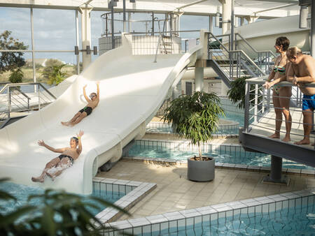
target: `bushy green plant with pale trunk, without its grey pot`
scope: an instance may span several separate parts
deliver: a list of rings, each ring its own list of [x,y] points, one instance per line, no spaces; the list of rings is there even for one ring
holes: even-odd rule
[[[219,104],[220,98],[215,93],[196,91],[192,95],[174,99],[162,117],[173,124],[176,134],[189,139],[192,145],[197,145],[200,160],[205,160],[202,157],[202,142],[213,138],[220,116],[225,115]]]

